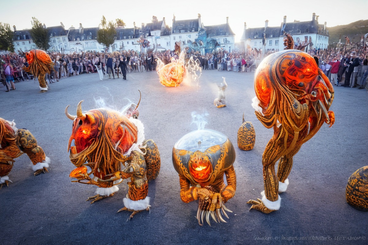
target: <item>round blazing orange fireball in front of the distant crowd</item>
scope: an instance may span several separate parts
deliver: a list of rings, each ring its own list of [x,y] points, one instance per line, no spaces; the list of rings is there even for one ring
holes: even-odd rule
[[[164,65],[157,73],[163,86],[178,87],[184,80],[185,66],[181,62],[172,62]]]

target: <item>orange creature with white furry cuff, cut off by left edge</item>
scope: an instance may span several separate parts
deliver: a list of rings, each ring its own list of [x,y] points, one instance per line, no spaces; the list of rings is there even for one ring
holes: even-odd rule
[[[13,168],[14,158],[27,154],[33,164],[34,175],[49,172],[50,159],[37,145],[36,138],[26,129],[17,129],[14,122],[0,118],[0,189],[8,185],[8,174]]]

